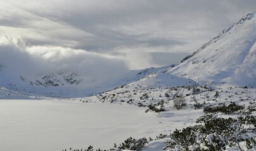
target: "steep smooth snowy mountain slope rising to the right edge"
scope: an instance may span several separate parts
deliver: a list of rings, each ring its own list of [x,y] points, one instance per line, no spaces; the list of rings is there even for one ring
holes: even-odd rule
[[[169,70],[201,83],[256,87],[256,11]]]

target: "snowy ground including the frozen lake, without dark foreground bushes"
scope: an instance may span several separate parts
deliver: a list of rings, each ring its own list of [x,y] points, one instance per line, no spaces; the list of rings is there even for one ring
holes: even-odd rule
[[[202,86],[195,89],[200,94],[192,95],[186,88],[145,89],[142,86],[136,89],[128,84],[88,98],[1,99],[0,150],[84,149],[89,145],[109,149],[129,137],[154,139],[160,133],[169,136],[176,128],[197,125],[205,106],[235,102],[245,108],[255,108],[256,89]],[[186,105],[181,109],[174,107],[172,98],[176,94],[188,95],[183,96]],[[197,103],[202,106],[195,108]],[[149,104],[166,111],[147,111]],[[217,116],[238,117],[224,113]],[[149,142],[144,150],[160,151],[168,138]]]

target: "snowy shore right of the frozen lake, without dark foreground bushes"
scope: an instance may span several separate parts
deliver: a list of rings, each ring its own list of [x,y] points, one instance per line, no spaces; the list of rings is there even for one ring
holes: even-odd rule
[[[195,92],[195,90],[199,93]],[[183,98],[184,106],[182,106],[180,109],[177,109],[174,103],[176,96]],[[245,110],[241,111],[241,113],[217,113],[217,117],[230,117],[235,119],[238,118],[238,116],[244,117],[246,115],[245,112],[247,112],[247,108],[254,108],[254,110],[256,108],[256,89],[225,86],[198,86],[194,87],[194,89],[192,87],[147,88],[147,86],[144,86],[143,83],[141,85],[134,85],[131,83],[126,84],[119,89],[101,93],[97,96],[76,98],[73,100],[79,100],[85,104],[88,102],[102,102],[147,106],[148,113],[155,113],[155,116],[158,118],[165,117],[171,121],[170,125],[168,126],[168,131],[173,133],[176,128],[180,130],[187,126],[198,125],[196,121],[198,118],[200,118],[200,116],[205,115],[204,108],[206,106],[218,106],[220,104],[226,104],[228,106],[229,104],[236,103],[240,106],[244,106]],[[150,109],[150,106],[153,108]],[[161,111],[161,109],[164,111]],[[252,116],[255,116],[255,114],[255,111],[251,113]],[[212,113],[212,115],[214,115],[214,113]],[[247,126],[245,125],[245,127]],[[255,132],[249,135],[255,137]],[[165,139],[157,139],[149,142],[147,145],[145,145],[144,150],[162,150],[165,141]],[[242,147],[245,148],[245,145],[242,145]],[[228,148],[228,150],[235,150],[235,148],[231,147]]]

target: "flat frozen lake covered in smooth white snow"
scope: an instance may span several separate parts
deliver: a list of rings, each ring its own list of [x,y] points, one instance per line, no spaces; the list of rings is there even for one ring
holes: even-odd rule
[[[109,149],[128,137],[169,133],[170,118],[108,103],[0,100],[0,150]],[[176,117],[179,118],[179,117]]]

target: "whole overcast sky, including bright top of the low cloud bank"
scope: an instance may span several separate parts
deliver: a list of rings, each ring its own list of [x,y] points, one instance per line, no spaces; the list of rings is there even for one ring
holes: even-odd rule
[[[0,4],[2,60],[13,50],[63,67],[77,66],[80,59],[89,70],[99,64],[105,69],[144,69],[178,63],[255,11],[256,1],[0,0]],[[15,48],[2,51],[6,45]]]

